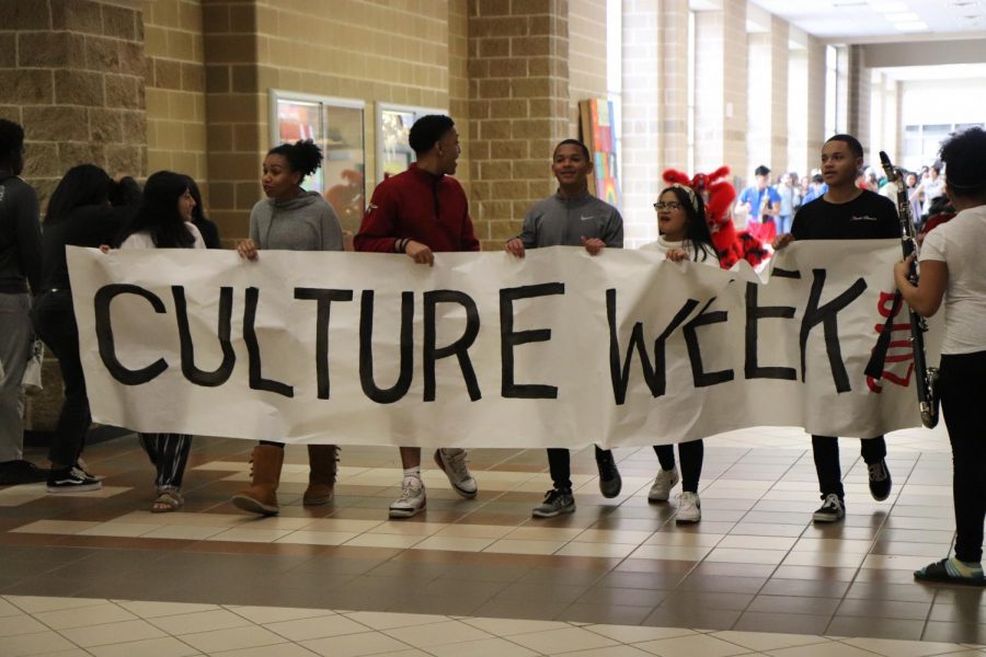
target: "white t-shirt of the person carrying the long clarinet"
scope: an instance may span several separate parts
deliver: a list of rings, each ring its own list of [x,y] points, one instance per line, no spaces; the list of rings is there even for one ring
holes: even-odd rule
[[[962,210],[925,238],[920,261],[949,267],[942,354],[986,351],[986,206]]]

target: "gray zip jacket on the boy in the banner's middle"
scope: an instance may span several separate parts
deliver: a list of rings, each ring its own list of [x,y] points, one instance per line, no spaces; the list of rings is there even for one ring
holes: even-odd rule
[[[555,194],[531,206],[517,237],[525,249],[581,246],[583,237],[598,238],[607,246],[620,249],[623,218],[618,209],[592,194],[578,198]]]

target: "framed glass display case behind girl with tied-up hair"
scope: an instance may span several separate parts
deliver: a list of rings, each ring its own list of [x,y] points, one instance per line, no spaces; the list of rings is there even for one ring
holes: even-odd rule
[[[358,100],[271,90],[271,146],[311,139],[322,148],[322,168],[302,187],[322,194],[349,232],[366,201],[365,108]]]

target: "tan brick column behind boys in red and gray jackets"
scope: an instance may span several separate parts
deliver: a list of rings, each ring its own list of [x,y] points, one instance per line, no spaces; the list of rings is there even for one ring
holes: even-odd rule
[[[469,0],[470,206],[483,249],[502,249],[551,194],[569,136],[565,0]]]

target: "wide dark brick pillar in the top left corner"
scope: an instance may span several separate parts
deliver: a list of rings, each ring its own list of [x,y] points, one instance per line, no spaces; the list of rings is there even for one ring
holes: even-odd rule
[[[91,0],[4,0],[0,15],[0,116],[24,126],[24,176],[43,206],[76,164],[144,175],[140,12]]]

